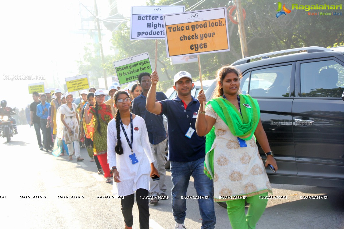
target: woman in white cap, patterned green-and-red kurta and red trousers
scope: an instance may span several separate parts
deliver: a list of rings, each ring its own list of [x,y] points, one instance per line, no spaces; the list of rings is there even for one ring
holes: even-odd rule
[[[105,104],[105,93],[103,90],[98,89],[95,93],[95,105],[90,107],[86,104],[84,117],[85,123],[88,125],[91,121],[94,125],[93,132],[93,152],[97,155],[101,168],[104,171],[105,183],[111,183],[111,171],[107,162],[107,125],[112,119],[111,107]]]

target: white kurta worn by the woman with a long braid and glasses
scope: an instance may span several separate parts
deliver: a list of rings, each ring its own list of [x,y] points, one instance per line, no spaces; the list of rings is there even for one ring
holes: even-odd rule
[[[120,137],[123,147],[123,154],[119,155],[115,151],[117,142],[116,120],[113,118],[107,129],[107,145],[108,145],[108,162],[110,169],[117,167],[120,176],[120,182],[114,182],[113,193],[119,196],[127,196],[133,194],[139,188],[149,190],[149,181],[151,167],[150,163],[154,162],[152,150],[148,139],[148,132],[144,119],[138,115],[133,118],[133,152],[139,162],[132,164],[129,158],[131,149],[128,145],[126,137],[120,127]],[[128,128],[127,128],[128,127]],[[130,141],[130,124],[124,125],[129,141]],[[117,189],[117,190],[116,190]],[[117,191],[117,192],[116,192]]]

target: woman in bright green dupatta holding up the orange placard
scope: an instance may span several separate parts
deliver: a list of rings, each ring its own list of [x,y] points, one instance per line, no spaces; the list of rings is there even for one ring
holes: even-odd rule
[[[215,95],[205,110],[205,94],[200,91],[196,131],[199,136],[206,135],[204,172],[214,181],[214,201],[227,203],[233,229],[254,229],[267,205],[267,199],[260,196],[272,193],[256,139],[268,154],[265,167],[278,167],[260,121],[257,100],[238,94],[239,75],[230,66],[218,70]],[[250,204],[246,216],[245,199]]]

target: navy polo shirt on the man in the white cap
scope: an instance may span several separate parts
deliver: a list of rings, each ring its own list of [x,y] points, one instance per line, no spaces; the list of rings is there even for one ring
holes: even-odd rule
[[[205,137],[196,133],[196,118],[200,102],[192,97],[185,109],[184,101],[178,96],[173,100],[160,101],[161,114],[167,117],[169,136],[169,161],[188,162],[205,157]],[[191,127],[195,130],[191,138],[185,136]]]

